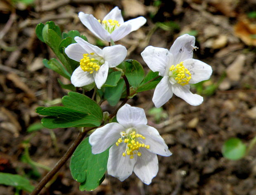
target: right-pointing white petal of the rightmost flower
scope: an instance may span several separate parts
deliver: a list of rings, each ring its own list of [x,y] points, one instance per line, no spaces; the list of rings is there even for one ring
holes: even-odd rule
[[[211,73],[213,72],[211,66],[200,60],[194,60],[192,58],[184,60],[183,65],[191,73],[191,79],[189,82],[192,84],[210,79]]]

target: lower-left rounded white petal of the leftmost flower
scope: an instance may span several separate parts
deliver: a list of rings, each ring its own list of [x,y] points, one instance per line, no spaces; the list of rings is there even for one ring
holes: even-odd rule
[[[71,76],[71,83],[75,87],[82,87],[85,85],[89,85],[94,82],[93,75],[89,72],[85,72],[81,69],[80,66],[74,70],[72,76]]]

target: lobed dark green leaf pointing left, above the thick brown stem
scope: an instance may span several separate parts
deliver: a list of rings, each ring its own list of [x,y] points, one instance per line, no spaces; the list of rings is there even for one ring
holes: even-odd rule
[[[69,92],[62,98],[64,106],[38,107],[38,114],[47,116],[42,119],[44,127],[67,128],[67,127],[97,127],[103,118],[100,106],[89,97]]]

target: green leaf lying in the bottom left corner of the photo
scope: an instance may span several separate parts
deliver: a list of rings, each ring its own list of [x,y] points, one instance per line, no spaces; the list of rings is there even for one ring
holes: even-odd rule
[[[0,184],[14,186],[20,190],[32,192],[34,186],[29,183],[29,180],[18,174],[0,173]]]

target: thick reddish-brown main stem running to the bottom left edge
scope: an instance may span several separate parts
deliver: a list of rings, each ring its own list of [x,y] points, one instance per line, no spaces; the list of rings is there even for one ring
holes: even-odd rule
[[[66,151],[64,156],[59,160],[59,162],[53,167],[53,169],[48,172],[44,178],[38,183],[38,186],[33,190],[31,195],[37,195],[42,188],[46,185],[50,179],[59,171],[59,169],[66,163],[66,161],[69,159],[69,157],[73,154],[77,146],[82,142],[83,138],[85,137],[86,133],[92,129],[95,129],[95,127],[88,128],[87,130],[83,132],[79,132],[78,136],[76,137],[75,141],[73,144],[69,147],[69,149]]]

